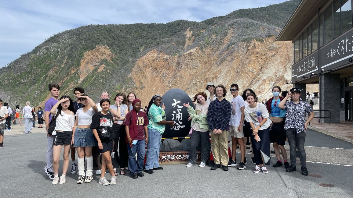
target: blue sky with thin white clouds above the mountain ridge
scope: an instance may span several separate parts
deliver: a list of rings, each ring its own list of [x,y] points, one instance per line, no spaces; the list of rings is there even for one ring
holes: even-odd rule
[[[90,24],[203,21],[286,0],[0,0],[0,67],[56,33]]]

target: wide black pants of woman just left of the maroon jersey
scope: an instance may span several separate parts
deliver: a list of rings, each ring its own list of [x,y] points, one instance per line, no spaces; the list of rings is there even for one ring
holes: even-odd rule
[[[127,151],[127,144],[125,141],[126,132],[125,126],[121,124],[114,124],[114,158],[112,159],[113,168],[125,168],[128,165],[129,154]],[[120,140],[120,142],[119,142]],[[119,154],[118,154],[119,143]]]

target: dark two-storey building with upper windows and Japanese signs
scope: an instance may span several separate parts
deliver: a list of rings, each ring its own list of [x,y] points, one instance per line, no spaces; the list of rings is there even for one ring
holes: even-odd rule
[[[331,112],[331,123],[353,121],[352,14],[352,0],[302,0],[276,38],[293,42],[293,87],[304,99],[305,85],[318,83],[319,110]]]

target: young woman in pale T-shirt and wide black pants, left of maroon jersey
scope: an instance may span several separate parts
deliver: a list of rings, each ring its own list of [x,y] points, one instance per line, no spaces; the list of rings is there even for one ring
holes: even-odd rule
[[[122,123],[127,115],[128,107],[123,104],[125,101],[125,94],[116,94],[114,101],[115,104],[109,107],[110,113],[113,115],[114,119],[114,158],[112,159],[114,175],[118,175],[116,168],[120,166],[120,175],[125,175],[125,167],[128,165],[128,151],[127,144],[125,141],[126,132],[125,127]],[[120,141],[119,141],[120,140]],[[118,143],[119,143],[119,154],[118,154]]]

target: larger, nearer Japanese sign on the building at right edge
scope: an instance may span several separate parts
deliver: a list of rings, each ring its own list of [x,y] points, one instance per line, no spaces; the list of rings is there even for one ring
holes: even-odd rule
[[[353,30],[320,49],[321,69],[327,71],[348,64],[351,57],[353,57]]]

